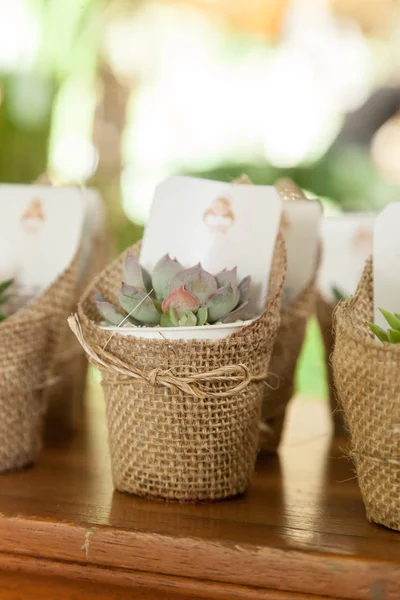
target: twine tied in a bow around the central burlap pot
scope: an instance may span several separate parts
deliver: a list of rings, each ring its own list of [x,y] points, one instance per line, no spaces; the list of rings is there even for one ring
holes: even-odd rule
[[[227,398],[239,394],[252,381],[264,382],[265,385],[268,385],[266,382],[267,372],[253,375],[250,369],[243,364],[226,365],[200,373],[191,365],[179,365],[170,369],[156,368],[145,372],[132,365],[127,365],[104,348],[89,346],[84,339],[77,315],[69,317],[68,324],[88,355],[90,363],[107,372],[107,378],[103,385],[129,385],[134,380],[140,380],[153,387],[175,388],[199,399]],[[226,384],[226,389],[212,391],[210,387],[215,383]]]

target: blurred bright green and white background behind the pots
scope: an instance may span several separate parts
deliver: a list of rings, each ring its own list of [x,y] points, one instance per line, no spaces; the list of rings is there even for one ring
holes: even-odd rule
[[[399,3],[0,3],[0,180],[97,186],[115,252],[171,174],[292,177],[326,212],[399,197]],[[318,326],[301,393],[326,394]]]

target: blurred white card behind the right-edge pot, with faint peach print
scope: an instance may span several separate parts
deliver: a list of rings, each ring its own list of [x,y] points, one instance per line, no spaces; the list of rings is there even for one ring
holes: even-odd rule
[[[322,220],[322,262],[318,287],[327,302],[337,302],[334,289],[348,297],[357,289],[365,261],[372,254],[373,213],[342,213]]]

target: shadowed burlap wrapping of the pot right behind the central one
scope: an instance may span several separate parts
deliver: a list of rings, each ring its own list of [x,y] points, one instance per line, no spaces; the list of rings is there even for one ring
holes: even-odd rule
[[[271,388],[265,388],[260,422],[261,453],[276,452],[282,437],[285,414],[294,394],[297,360],[303,346],[309,317],[315,309],[314,279],[281,311],[274,350],[269,365]]]

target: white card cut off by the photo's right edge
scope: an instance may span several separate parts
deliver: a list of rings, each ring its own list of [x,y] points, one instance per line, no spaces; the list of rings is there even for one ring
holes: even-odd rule
[[[379,308],[400,313],[400,202],[376,217],[374,227],[374,323],[389,326]]]

